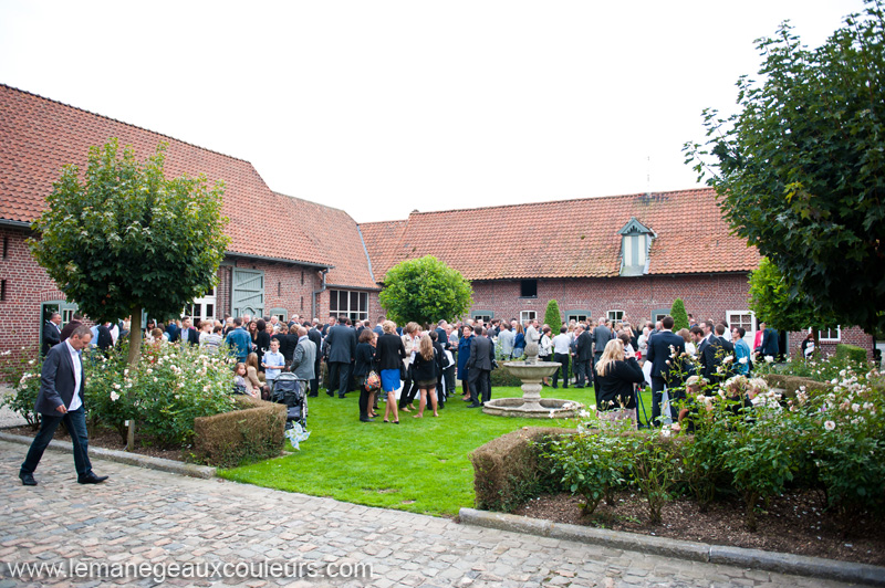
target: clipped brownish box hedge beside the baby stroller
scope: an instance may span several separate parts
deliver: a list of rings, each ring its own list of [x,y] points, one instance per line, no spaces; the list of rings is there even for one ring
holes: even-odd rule
[[[195,459],[236,468],[280,454],[285,406],[241,396],[237,408],[240,410],[194,420]]]

